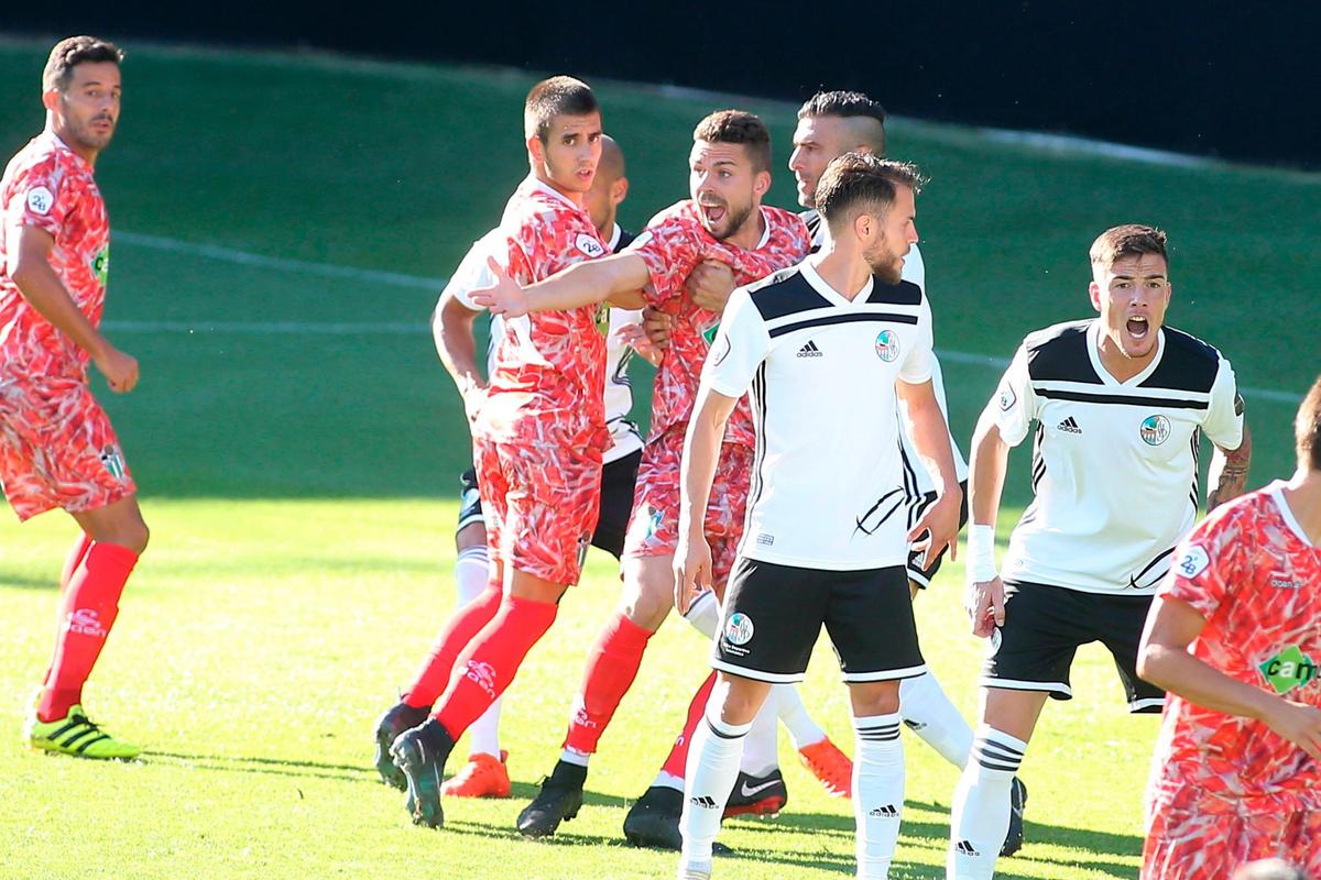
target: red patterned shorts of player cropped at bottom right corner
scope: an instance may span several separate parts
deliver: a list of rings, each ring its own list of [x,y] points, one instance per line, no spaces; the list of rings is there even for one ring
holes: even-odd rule
[[[1321,813],[1210,814],[1166,807],[1143,847],[1141,880],[1225,880],[1244,862],[1284,859],[1321,877]]]

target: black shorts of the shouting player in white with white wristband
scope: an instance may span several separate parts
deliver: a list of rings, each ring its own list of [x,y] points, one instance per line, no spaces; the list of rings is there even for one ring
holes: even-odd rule
[[[1099,641],[1115,658],[1128,711],[1159,712],[1165,706],[1165,691],[1137,677],[1137,643],[1151,596],[1017,582],[1007,582],[1004,591],[1004,625],[991,636],[995,653],[982,670],[983,687],[1044,690],[1055,699],[1073,699],[1074,653]]]

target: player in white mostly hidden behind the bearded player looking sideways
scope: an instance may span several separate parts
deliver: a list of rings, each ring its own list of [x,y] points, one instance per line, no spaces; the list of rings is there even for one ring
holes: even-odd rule
[[[849,150],[885,156],[885,108],[867,95],[855,91],[826,91],[812,95],[798,110],[798,128],[794,131],[794,152],[789,157],[789,168],[798,183],[798,202],[806,208],[799,216],[812,232],[814,248],[823,247],[828,239],[828,230],[815,210],[816,183],[831,160]],[[926,292],[926,265],[917,244],[904,257],[904,281],[915,284],[923,293]],[[931,355],[931,387],[935,389],[935,400],[941,404],[941,412],[945,413],[946,422],[948,422],[950,410],[945,402],[945,377],[941,373],[941,361],[934,352]],[[913,525],[921,519],[922,512],[935,501],[937,492],[931,476],[922,467],[921,458],[913,449],[908,424],[901,421],[900,426],[902,429],[900,437],[904,443],[905,488],[910,501],[909,524]],[[950,449],[954,453],[954,470],[959,478],[960,489],[967,492],[968,466],[963,460],[963,454],[952,434]],[[959,511],[960,528],[967,522],[967,499],[964,499],[964,505]],[[923,565],[922,555],[922,551],[917,549],[909,554],[909,592],[914,599],[917,599],[919,590],[925,590],[931,583],[935,573],[941,569],[941,561],[945,558],[942,550],[934,557],[929,557]],[[972,749],[972,728],[946,697],[935,674],[927,672],[900,682],[900,714],[904,715],[904,723],[942,757],[960,770],[967,765]],[[1013,855],[1022,846],[1022,807],[1028,800],[1028,789],[1017,777],[1013,780],[1009,798],[1009,830],[1005,834],[1000,855]]]

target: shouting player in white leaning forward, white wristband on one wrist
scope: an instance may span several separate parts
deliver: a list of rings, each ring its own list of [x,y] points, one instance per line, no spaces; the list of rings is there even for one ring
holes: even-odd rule
[[[1209,507],[1243,491],[1250,442],[1234,371],[1162,327],[1170,299],[1165,234],[1118,226],[1091,245],[1098,318],[1029,334],[972,438],[967,608],[991,637],[982,724],[954,797],[951,880],[992,876],[1009,786],[1046,702],[1073,699],[1078,645],[1115,658],[1133,712],[1164,693],[1137,678],[1152,594],[1197,517],[1198,438],[1215,446]],[[1036,499],[995,569],[995,519],[1009,447],[1037,422]]]

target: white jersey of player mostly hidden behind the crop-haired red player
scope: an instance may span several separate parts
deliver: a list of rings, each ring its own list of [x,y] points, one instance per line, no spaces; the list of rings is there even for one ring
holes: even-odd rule
[[[624,232],[620,226],[614,226],[610,236],[610,251],[617,249]],[[472,309],[483,311],[481,306],[473,303],[469,292],[476,288],[485,288],[495,284],[495,276],[486,265],[486,257],[495,255],[506,241],[499,228],[491,230],[468,249],[464,259],[454,269],[454,274],[445,285],[445,292],[453,294],[456,299]],[[444,294],[443,294],[444,296]],[[610,309],[610,331],[605,340],[605,422],[610,429],[610,449],[605,451],[604,463],[618,460],[642,449],[642,433],[638,426],[629,421],[629,412],[633,409],[633,385],[629,383],[629,360],[633,358],[633,348],[620,336],[620,329],[642,321],[642,313],[631,309]],[[486,348],[486,375],[495,363],[495,343],[505,332],[505,322],[499,317],[491,318],[490,344]]]

